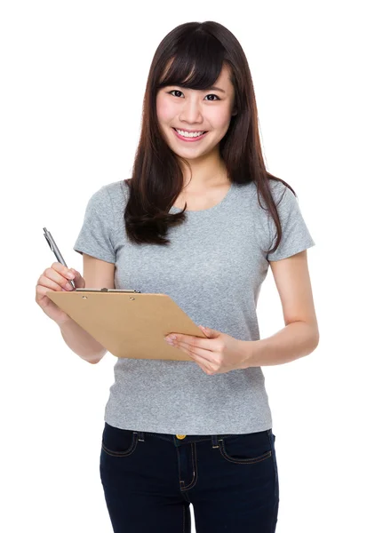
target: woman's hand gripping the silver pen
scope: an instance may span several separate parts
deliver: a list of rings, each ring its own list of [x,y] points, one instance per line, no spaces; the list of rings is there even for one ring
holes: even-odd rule
[[[73,274],[73,277],[69,277],[69,272]],[[69,269],[68,267],[64,267],[64,265],[61,265],[61,263],[57,261],[52,263],[51,267],[46,268],[36,282],[37,305],[42,308],[47,316],[59,325],[70,320],[70,316],[52,302],[52,299],[48,298],[45,293],[49,290],[64,292],[74,290],[69,283],[69,280],[74,280],[77,289],[84,289],[86,286],[84,278],[79,272],[74,268]]]

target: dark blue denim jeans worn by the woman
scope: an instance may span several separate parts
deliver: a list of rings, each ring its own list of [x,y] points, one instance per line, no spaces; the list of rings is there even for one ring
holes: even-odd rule
[[[105,423],[100,479],[115,533],[274,533],[279,482],[272,429],[141,433]]]

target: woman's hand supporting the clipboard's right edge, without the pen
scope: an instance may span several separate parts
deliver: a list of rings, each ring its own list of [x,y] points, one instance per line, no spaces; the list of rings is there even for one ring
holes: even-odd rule
[[[206,374],[224,374],[230,370],[246,369],[249,366],[249,345],[226,333],[198,326],[207,338],[169,333],[165,340],[172,339],[171,346],[180,348],[189,355]]]

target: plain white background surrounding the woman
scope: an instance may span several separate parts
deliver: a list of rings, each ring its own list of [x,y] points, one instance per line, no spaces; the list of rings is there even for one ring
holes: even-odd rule
[[[316,243],[307,254],[320,344],[263,367],[280,476],[277,532],[371,530],[370,4],[1,4],[2,531],[112,531],[99,459],[116,358],[84,362],[36,305],[37,278],[55,260],[43,227],[82,272],[73,244],[89,197],[130,177],[156,47],[193,20],[220,22],[243,45],[267,170],[294,188]],[[261,338],[283,325],[269,270]]]

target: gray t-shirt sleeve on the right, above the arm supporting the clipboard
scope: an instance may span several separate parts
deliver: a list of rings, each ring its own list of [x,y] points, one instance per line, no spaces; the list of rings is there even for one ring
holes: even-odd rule
[[[277,249],[273,253],[267,253],[268,261],[286,259],[299,253],[299,251],[304,251],[307,248],[315,246],[315,241],[310,235],[305,219],[299,209],[297,197],[282,182],[277,182],[275,190],[277,194],[274,196],[274,199],[279,213],[283,235]],[[276,226],[274,219],[270,216],[268,218],[268,231],[270,243],[268,250],[271,250],[276,242]]]

